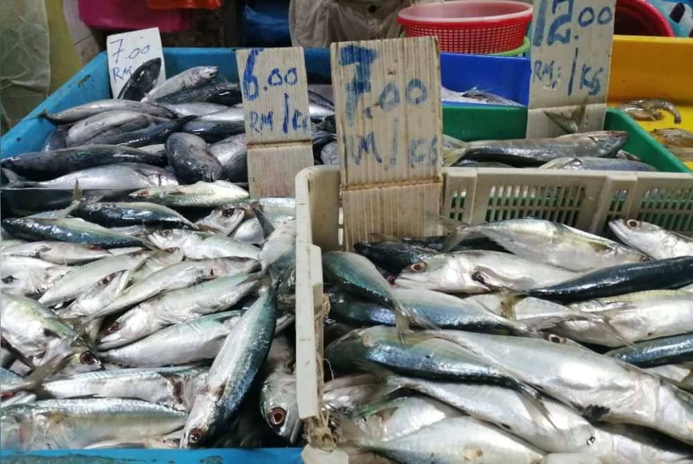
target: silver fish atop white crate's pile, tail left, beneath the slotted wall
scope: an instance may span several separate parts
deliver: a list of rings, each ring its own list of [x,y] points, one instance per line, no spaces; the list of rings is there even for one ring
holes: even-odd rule
[[[576,272],[647,260],[642,253],[613,240],[533,218],[459,226],[446,242],[445,250],[453,249],[469,235],[484,235],[520,258]],[[543,246],[547,243],[551,247]]]

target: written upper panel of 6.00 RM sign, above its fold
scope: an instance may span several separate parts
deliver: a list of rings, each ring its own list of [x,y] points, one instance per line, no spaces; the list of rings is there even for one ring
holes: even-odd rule
[[[301,48],[236,52],[249,142],[310,140],[310,114]]]

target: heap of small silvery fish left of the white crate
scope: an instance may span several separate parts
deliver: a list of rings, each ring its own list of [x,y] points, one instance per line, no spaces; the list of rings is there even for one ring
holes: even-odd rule
[[[286,445],[295,202],[248,196],[199,181],[2,221],[1,449]]]

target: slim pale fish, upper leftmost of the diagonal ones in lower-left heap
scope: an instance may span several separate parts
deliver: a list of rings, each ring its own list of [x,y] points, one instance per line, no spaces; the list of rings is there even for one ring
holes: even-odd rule
[[[135,251],[73,267],[39,298],[39,303],[51,306],[73,300],[109,274],[138,267],[149,255],[149,251]]]

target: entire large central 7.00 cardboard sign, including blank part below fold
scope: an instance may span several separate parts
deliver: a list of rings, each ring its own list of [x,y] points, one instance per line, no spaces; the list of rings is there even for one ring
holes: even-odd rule
[[[331,46],[347,248],[426,235],[441,201],[441,101],[432,37]]]

